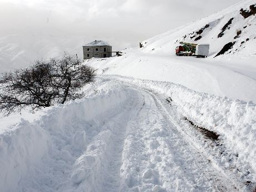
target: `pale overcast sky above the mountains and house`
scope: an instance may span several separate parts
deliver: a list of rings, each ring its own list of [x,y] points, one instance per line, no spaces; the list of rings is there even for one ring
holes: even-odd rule
[[[227,8],[240,0],[0,0],[0,36],[84,36],[118,49]]]

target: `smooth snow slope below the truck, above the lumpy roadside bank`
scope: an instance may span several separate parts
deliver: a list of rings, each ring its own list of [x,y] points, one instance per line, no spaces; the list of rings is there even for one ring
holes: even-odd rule
[[[85,63],[98,74],[169,81],[195,91],[256,102],[254,58],[194,58],[125,50],[121,57],[93,58]]]

